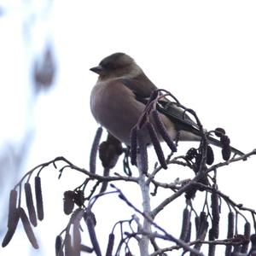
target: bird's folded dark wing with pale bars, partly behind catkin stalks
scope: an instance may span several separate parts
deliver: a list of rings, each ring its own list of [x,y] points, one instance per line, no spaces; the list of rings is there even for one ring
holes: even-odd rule
[[[121,82],[132,90],[138,102],[142,102],[145,105],[151,93],[157,90],[157,87],[145,75],[136,79],[121,79]],[[172,120],[177,131],[190,131],[195,133],[195,135],[199,135],[198,125],[189,118],[188,114],[184,113],[182,108],[178,108],[175,103],[166,101],[165,99],[157,104],[157,109],[160,113],[165,114]]]

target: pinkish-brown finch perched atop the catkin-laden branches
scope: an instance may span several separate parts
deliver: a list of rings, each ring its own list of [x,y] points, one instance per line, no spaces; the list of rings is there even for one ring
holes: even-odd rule
[[[158,88],[148,79],[137,62],[122,52],[108,55],[90,71],[98,74],[96,84],[90,94],[90,110],[96,122],[105,127],[113,137],[126,146],[131,146],[131,129],[141,117],[148,98]],[[169,102],[164,99],[162,102]],[[164,104],[166,105],[166,104]],[[159,108],[159,115],[166,127],[169,137],[179,141],[200,141],[201,132],[183,108],[175,104],[168,104],[167,108]],[[159,136],[160,141],[162,138]],[[150,144],[147,131],[144,132],[145,141]],[[208,142],[223,147],[214,137],[208,137]],[[235,154],[243,153],[231,147]]]

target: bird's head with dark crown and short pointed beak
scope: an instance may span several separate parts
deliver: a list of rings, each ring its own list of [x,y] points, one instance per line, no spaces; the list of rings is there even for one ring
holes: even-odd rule
[[[143,73],[129,55],[120,52],[104,58],[98,66],[90,68],[90,71],[99,74],[100,79],[134,78]]]

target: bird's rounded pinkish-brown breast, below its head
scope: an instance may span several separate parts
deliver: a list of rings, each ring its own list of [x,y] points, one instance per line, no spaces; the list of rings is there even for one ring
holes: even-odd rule
[[[121,82],[107,81],[94,86],[90,108],[98,123],[121,142],[129,144],[131,128],[143,113],[144,105],[137,102],[132,91]]]

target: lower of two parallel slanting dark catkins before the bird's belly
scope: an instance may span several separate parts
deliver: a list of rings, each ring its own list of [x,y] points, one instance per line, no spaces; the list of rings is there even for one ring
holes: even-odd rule
[[[151,123],[146,123],[146,127],[148,129],[149,137],[154,146],[154,151],[157,154],[157,158],[160,162],[160,166],[164,169],[167,169],[166,159],[164,152],[160,146],[160,141],[157,137],[156,131],[154,130],[154,126]]]

